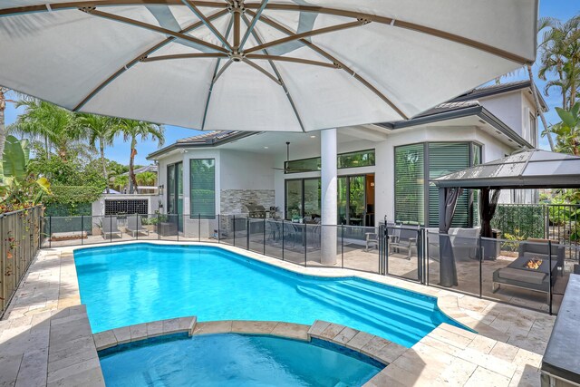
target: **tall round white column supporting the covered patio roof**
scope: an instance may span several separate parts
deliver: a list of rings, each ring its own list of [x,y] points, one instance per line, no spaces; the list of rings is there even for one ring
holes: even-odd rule
[[[336,181],[336,129],[326,129],[320,136],[321,184],[322,184],[322,224],[337,223],[337,181]],[[336,263],[336,227],[322,227],[321,263]]]

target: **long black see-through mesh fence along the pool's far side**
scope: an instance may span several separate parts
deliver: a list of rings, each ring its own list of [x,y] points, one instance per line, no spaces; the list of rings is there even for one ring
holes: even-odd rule
[[[57,231],[55,231],[57,230]],[[123,241],[205,242],[239,247],[307,267],[342,267],[556,313],[570,272],[557,240],[441,234],[382,222],[378,227],[295,223],[243,215],[119,214],[43,218],[42,247]]]

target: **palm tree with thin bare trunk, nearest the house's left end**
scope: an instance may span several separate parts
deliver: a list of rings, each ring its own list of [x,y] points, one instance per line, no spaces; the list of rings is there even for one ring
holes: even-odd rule
[[[129,178],[130,178],[130,193],[134,193],[137,189],[137,179],[135,178],[135,155],[137,155],[137,138],[140,140],[148,140],[151,136],[152,140],[158,140],[159,146],[165,142],[163,135],[163,127],[150,122],[136,121],[122,119],[115,129],[115,134],[123,135],[123,140],[131,141],[131,155],[129,158]]]

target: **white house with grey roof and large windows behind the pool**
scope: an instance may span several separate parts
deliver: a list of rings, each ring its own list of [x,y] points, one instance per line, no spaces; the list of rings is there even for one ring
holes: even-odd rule
[[[530,82],[511,82],[475,89],[408,121],[307,133],[208,132],[148,159],[159,165],[160,211],[207,219],[204,234],[217,214],[247,213],[247,205],[278,208],[288,219],[322,216],[325,224],[375,226],[386,216],[437,226],[437,189],[429,179],[535,148],[534,111]],[[502,196],[535,200],[533,191]],[[469,191],[459,198],[455,227],[477,223],[474,201]]]

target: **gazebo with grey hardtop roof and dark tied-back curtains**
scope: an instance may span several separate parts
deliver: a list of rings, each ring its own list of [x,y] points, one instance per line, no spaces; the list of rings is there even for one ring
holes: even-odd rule
[[[461,190],[479,190],[481,237],[492,237],[501,189],[580,189],[580,157],[523,150],[431,181],[439,188],[440,285],[453,286],[458,279],[448,232]]]

